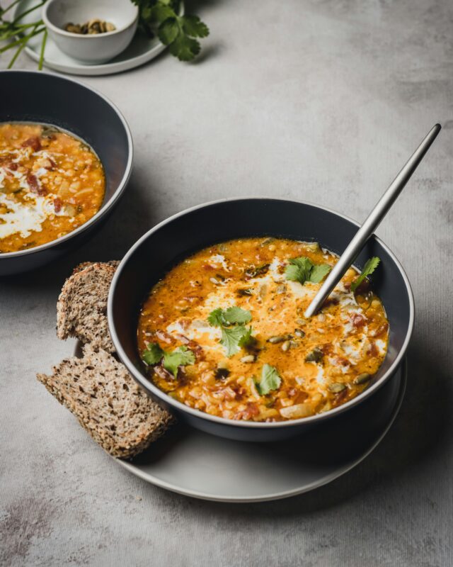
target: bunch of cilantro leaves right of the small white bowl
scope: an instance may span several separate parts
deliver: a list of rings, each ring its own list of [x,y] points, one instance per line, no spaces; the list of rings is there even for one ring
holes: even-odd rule
[[[148,35],[156,34],[171,55],[191,61],[200,53],[200,42],[210,30],[198,16],[179,16],[179,0],[132,0],[139,7],[139,26]]]

